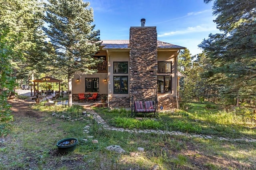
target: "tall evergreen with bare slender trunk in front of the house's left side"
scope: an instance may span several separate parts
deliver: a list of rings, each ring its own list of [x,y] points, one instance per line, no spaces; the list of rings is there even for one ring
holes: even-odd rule
[[[82,0],[48,0],[43,28],[52,46],[50,65],[68,77],[69,101],[72,106],[72,76],[74,73],[94,73],[90,70],[98,61],[92,56],[99,50],[99,30],[94,30],[93,10]]]

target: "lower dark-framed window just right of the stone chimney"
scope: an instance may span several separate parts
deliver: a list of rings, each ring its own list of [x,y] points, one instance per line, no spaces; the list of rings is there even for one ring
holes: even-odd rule
[[[172,93],[172,76],[157,76],[157,92]]]

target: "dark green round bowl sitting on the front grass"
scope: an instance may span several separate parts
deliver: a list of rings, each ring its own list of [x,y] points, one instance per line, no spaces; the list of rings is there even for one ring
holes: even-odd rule
[[[65,138],[57,142],[59,153],[73,152],[78,144],[76,138]]]

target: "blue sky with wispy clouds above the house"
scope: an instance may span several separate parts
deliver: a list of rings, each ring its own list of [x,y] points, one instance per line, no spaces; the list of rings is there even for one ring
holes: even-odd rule
[[[212,3],[203,0],[91,0],[96,29],[101,40],[129,40],[131,26],[156,26],[158,40],[201,53],[198,44],[216,34]]]

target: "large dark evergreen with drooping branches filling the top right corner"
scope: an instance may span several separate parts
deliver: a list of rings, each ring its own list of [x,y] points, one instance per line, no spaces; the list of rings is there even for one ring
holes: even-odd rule
[[[208,3],[212,0],[204,0]],[[256,1],[214,0],[220,34],[210,34],[199,47],[209,57],[204,75],[225,86],[223,94],[251,97],[256,89]]]

